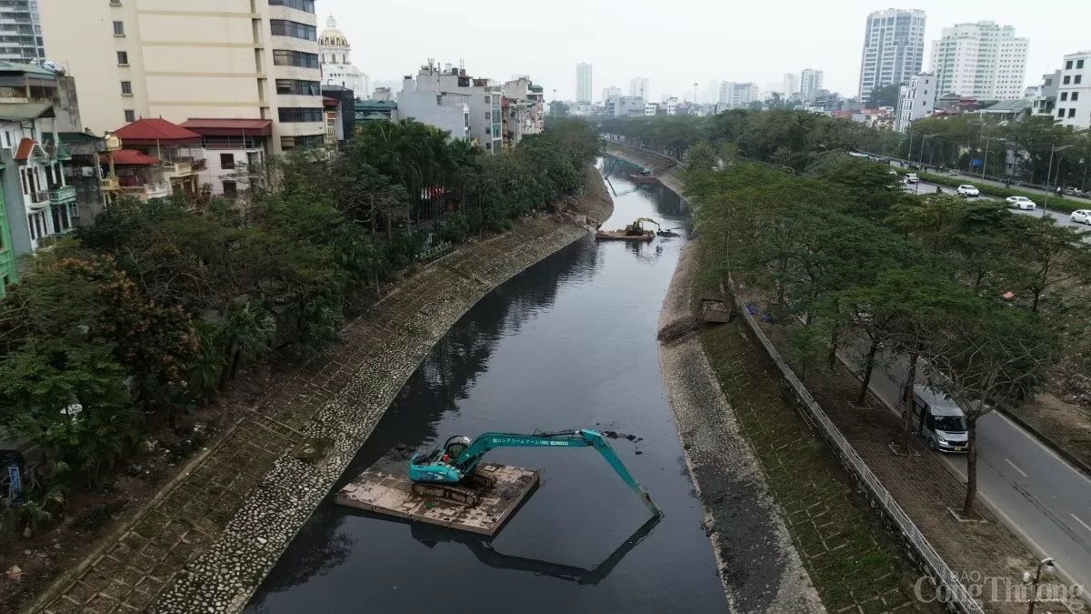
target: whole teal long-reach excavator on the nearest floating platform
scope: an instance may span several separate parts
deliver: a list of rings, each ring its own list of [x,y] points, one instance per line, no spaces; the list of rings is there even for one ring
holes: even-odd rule
[[[456,504],[475,506],[478,491],[495,485],[491,477],[478,473],[481,458],[495,448],[595,448],[610,463],[622,481],[640,497],[640,501],[660,517],[663,512],[651,500],[651,496],[630,475],[628,470],[614,453],[602,434],[587,428],[580,430],[558,430],[553,433],[484,433],[477,439],[456,435],[447,439],[442,448],[429,452],[417,452],[409,459],[409,480],[412,492],[418,495],[440,497]]]

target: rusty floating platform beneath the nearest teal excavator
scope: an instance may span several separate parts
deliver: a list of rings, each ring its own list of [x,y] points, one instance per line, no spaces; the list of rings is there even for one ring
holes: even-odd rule
[[[334,501],[375,513],[492,536],[538,486],[537,471],[482,462],[478,464],[477,472],[495,480],[495,485],[472,488],[478,492],[477,505],[458,505],[413,493],[406,462],[400,459],[398,462],[379,461],[341,488],[334,496]]]

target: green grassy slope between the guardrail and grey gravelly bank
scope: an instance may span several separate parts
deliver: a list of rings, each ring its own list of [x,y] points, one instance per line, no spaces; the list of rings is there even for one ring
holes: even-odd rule
[[[740,326],[708,329],[702,343],[826,609],[931,612],[911,598],[915,576],[898,544],[855,494],[836,453],[782,395]]]

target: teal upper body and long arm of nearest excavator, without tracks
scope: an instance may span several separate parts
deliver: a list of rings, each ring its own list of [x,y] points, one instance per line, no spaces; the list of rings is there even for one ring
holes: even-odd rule
[[[452,438],[455,439],[455,438]],[[484,433],[479,435],[473,441],[463,448],[463,445],[458,445],[458,448],[453,448],[448,444],[448,452],[444,453],[443,457],[445,461],[437,461],[447,471],[442,473],[442,475],[457,475],[459,479],[465,477],[473,473],[477,469],[478,463],[484,457],[489,450],[495,448],[595,448],[598,450],[602,458],[607,460],[607,463],[621,476],[622,481],[633,489],[634,493],[640,497],[640,503],[651,511],[654,516],[662,516],[662,510],[659,506],[651,500],[648,493],[633,479],[628,470],[625,469],[625,464],[621,462],[618,454],[610,447],[600,433],[589,429],[580,430],[559,430],[555,433],[536,433],[532,435],[521,435],[517,433]],[[452,458],[454,457],[454,458]],[[415,477],[415,469],[417,474],[422,477],[421,481],[437,481],[434,477],[424,477],[428,472],[427,468],[420,468],[417,459],[410,461],[410,479]],[[435,474],[440,475],[440,474]]]

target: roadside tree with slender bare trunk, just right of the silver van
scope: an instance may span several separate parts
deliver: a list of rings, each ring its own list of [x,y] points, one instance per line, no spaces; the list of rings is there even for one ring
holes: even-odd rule
[[[1057,340],[1033,314],[992,307],[971,317],[946,318],[922,352],[932,386],[947,393],[967,417],[967,491],[963,516],[978,494],[978,421],[999,406],[1033,398],[1044,383]]]

